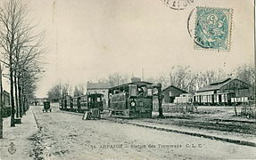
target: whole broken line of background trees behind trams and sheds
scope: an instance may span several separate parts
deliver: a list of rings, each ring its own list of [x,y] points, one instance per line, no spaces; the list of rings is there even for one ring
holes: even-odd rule
[[[232,73],[225,73],[223,70],[207,70],[205,72],[194,72],[190,67],[176,66],[170,68],[169,74],[159,77],[146,78],[145,81],[162,84],[162,89],[169,85],[175,85],[187,92],[194,93],[202,86],[214,81],[235,77],[255,87],[255,68],[250,65],[243,65],[233,69]],[[113,73],[107,78],[99,79],[98,83],[107,83],[109,86],[116,86],[130,82],[130,76],[120,73]],[[56,84],[48,92],[49,100],[59,100],[65,96],[78,96],[86,92],[86,84],[79,84],[72,87],[69,83]]]

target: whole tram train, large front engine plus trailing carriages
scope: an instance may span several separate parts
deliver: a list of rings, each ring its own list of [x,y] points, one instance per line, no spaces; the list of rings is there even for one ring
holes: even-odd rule
[[[161,84],[132,82],[109,89],[109,111],[111,116],[137,118],[152,117],[153,96],[158,96]],[[91,93],[78,97],[66,97],[59,101],[61,110],[71,112],[103,112],[103,94]]]

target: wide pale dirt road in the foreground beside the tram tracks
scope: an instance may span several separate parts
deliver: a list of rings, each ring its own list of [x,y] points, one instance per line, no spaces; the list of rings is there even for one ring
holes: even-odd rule
[[[156,131],[31,107],[40,128],[30,137],[34,159],[235,159],[256,158],[255,148]]]

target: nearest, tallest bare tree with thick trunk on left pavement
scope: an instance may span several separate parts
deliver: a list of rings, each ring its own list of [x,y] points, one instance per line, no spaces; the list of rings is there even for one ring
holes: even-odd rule
[[[15,42],[19,38],[21,22],[24,19],[25,10],[21,5],[20,1],[11,0],[4,3],[4,7],[0,9],[0,45],[4,49],[4,53],[8,58],[6,63],[10,72],[10,92],[11,92],[11,106],[12,106],[12,116],[11,116],[11,126],[14,124],[14,99],[13,99],[13,55],[15,52]]]

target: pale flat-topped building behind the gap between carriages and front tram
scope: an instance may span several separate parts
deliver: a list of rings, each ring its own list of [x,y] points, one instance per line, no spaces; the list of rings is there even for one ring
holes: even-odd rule
[[[90,83],[87,82],[87,94],[102,93],[103,94],[103,108],[108,108],[109,101],[109,88],[108,83]]]

